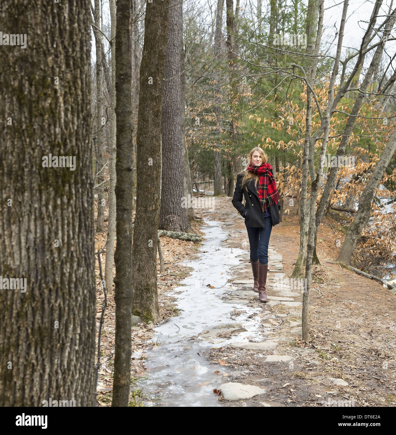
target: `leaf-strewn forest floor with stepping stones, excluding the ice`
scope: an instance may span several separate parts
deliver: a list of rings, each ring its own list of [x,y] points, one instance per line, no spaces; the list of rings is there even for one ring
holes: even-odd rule
[[[216,197],[215,201],[213,210],[198,209],[198,214],[220,222],[228,234],[222,241],[223,247],[246,251],[238,256],[240,265],[229,267],[231,293],[229,288],[224,288],[226,303],[235,304],[230,315],[235,323],[223,325],[223,329],[204,330],[189,338],[213,343],[212,347],[203,347],[201,355],[219,377],[213,393],[218,395],[219,403],[223,406],[396,405],[396,296],[376,281],[334,263],[339,252],[336,241],[343,240],[341,225],[325,218],[319,229],[317,253],[321,265],[313,269],[309,296],[310,341],[305,343],[301,338],[302,290],[293,288],[294,282],[285,284],[291,277],[299,249],[295,207],[289,207],[290,214],[285,214],[282,222],[272,228],[267,279],[269,301],[263,304],[252,291],[244,220],[232,206],[231,198]],[[200,233],[199,228],[203,227],[205,223],[198,221],[194,230]],[[96,248],[103,244],[104,236],[98,235]],[[169,293],[191,270],[178,263],[185,258],[197,258],[199,244],[161,237],[161,245],[168,274],[158,278],[158,297],[166,320],[179,312],[177,300]],[[102,304],[103,291],[97,271],[97,326]],[[254,319],[261,336],[265,337],[261,342],[238,338],[245,331],[238,317],[243,317],[249,308],[258,312]],[[114,313],[114,297],[109,296],[102,361],[114,352]],[[133,352],[158,346],[153,340],[154,327],[142,323],[133,327]],[[111,403],[113,361],[114,358],[105,361],[99,370],[99,406]],[[149,375],[144,358],[132,359],[132,383]],[[252,397],[244,398],[247,390],[251,391],[247,396]],[[144,391],[132,388],[131,392],[131,406],[144,404]]]

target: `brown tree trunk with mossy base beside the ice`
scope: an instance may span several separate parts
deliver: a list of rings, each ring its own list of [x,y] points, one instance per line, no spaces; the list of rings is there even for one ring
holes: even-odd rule
[[[136,139],[137,194],[132,271],[135,286],[133,312],[146,322],[162,320],[157,293],[157,238],[161,204],[162,86],[168,15],[169,0],[147,2],[140,66]],[[175,106],[180,113],[180,99],[176,101],[178,104]]]

